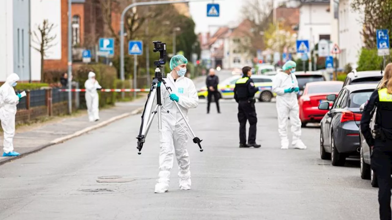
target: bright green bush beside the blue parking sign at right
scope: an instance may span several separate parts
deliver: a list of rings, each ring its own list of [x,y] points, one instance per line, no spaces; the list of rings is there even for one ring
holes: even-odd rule
[[[377,49],[363,48],[359,55],[357,71],[380,70],[382,61],[383,57],[378,56]]]

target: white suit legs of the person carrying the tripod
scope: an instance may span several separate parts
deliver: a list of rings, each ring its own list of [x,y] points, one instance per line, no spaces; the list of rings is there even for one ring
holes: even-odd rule
[[[185,124],[181,124],[187,129]],[[162,130],[159,130],[160,154],[159,154],[159,179],[158,183],[169,184],[170,171],[173,168],[174,153],[179,166],[178,177],[180,187],[191,187],[191,171],[189,171],[189,154],[187,151],[188,136],[182,128],[176,124],[174,130],[162,120]]]

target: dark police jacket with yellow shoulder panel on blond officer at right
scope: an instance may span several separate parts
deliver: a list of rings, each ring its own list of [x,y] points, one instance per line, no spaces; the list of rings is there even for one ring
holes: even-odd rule
[[[377,107],[377,111],[374,109]],[[363,109],[361,118],[361,132],[369,146],[376,146],[377,142],[372,136],[370,128],[370,119],[372,119],[372,112],[376,114],[376,124],[380,127],[383,141],[392,141],[392,94],[388,94],[387,88],[375,90],[370,96],[365,108]]]

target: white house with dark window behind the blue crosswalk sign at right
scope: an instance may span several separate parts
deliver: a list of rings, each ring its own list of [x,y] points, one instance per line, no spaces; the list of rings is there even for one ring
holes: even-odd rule
[[[299,40],[309,40],[310,49],[319,40],[331,40],[329,0],[307,0],[299,8]]]

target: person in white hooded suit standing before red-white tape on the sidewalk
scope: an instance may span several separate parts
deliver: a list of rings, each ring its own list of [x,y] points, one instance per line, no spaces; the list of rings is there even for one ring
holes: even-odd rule
[[[96,81],[94,72],[89,72],[89,79],[84,83],[84,88],[86,89],[85,97],[89,121],[98,121],[99,97],[97,89],[101,89],[102,87],[99,85],[98,81]]]

